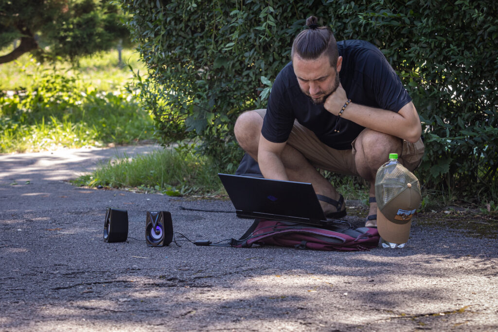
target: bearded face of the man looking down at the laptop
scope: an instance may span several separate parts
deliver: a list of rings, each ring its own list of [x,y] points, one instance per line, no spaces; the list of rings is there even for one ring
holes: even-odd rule
[[[339,57],[337,67],[331,66],[328,55],[316,60],[303,60],[298,55],[292,59],[299,88],[315,105],[323,104],[339,87],[341,64],[342,57]]]

